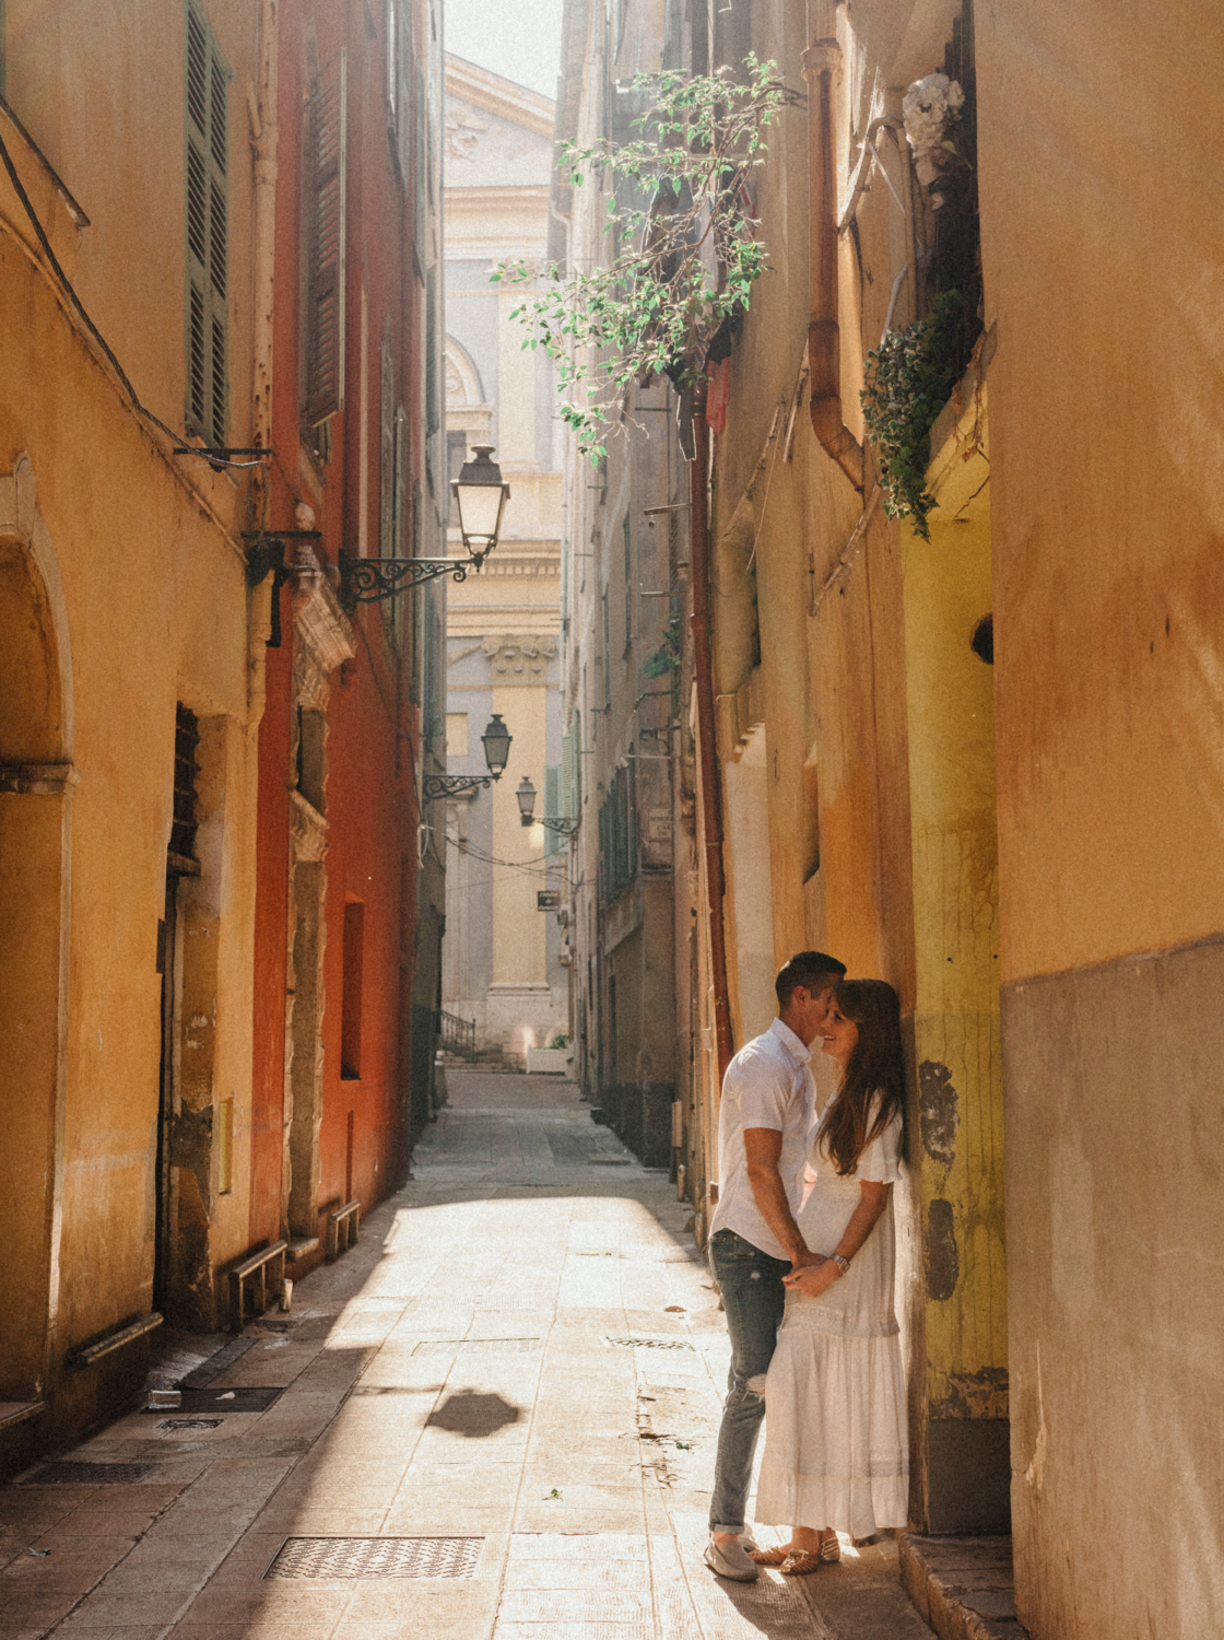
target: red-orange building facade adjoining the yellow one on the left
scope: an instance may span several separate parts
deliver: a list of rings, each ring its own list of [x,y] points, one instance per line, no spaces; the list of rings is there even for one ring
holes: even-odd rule
[[[439,556],[437,8],[388,3],[370,28],[282,3],[279,103],[262,531],[285,569],[262,582],[282,641],[261,735],[251,1240],[288,1240],[301,1273],[329,1210],[398,1182],[431,1114],[421,784],[444,594],[359,604],[344,574]]]

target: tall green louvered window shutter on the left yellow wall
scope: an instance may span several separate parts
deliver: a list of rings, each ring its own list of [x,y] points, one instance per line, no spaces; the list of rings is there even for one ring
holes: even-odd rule
[[[226,438],[229,69],[187,7],[187,430]]]

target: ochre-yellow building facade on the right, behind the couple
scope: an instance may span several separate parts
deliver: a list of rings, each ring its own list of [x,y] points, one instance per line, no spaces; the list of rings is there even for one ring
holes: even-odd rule
[[[890,981],[911,1519],[1011,1520],[1037,1640],[1206,1632],[1216,1512],[1180,1506],[1216,1489],[1221,1292],[1211,1187],[1186,1204],[1181,1181],[1221,1146],[1216,526],[1195,477],[1219,325],[1198,187],[1162,131],[1172,108],[1203,130],[1193,66],[1219,59],[1219,23],[1175,8],[1147,54],[1114,13],[1042,0],[672,23],[575,0],[559,134],[614,134],[621,54],[737,72],[755,51],[801,90],[750,190],[768,271],[708,361],[690,482],[665,489],[691,507],[672,902],[698,1235],[721,1071],[768,1020],[772,971],[818,946]],[[562,208],[572,256],[600,254],[605,207],[588,189]],[[921,520],[890,517],[860,403],[890,338],[949,349],[944,408],[904,446]],[[895,382],[908,413],[918,387]],[[600,625],[567,676],[598,671]],[[583,776],[610,769],[585,725],[582,751]],[[598,995],[606,935],[580,910],[575,935]],[[1176,1089],[1158,1115],[1155,1084]],[[1137,1438],[1124,1405],[1145,1409]],[[1131,1530],[1155,1553],[1117,1576]]]

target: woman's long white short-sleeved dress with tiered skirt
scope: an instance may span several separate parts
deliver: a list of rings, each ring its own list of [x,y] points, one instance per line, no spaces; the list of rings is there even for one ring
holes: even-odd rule
[[[845,1179],[819,1153],[818,1138],[819,1128],[808,1158],[816,1182],[798,1225],[813,1253],[827,1256],[859,1205],[860,1181],[891,1184],[900,1178],[901,1118],[872,1140]],[[844,1276],[818,1299],[787,1292],[765,1379],[757,1520],[836,1527],[855,1538],[908,1524],[909,1443],[893,1312],[895,1263],[890,1191]]]

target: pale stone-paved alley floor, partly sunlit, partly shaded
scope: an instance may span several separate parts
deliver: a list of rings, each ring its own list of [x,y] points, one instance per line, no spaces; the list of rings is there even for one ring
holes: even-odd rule
[[[169,1340],[179,1412],[0,1487],[0,1633],[931,1640],[893,1543],[711,1576],[728,1348],[687,1209],[570,1084],[451,1100],[292,1315]]]

